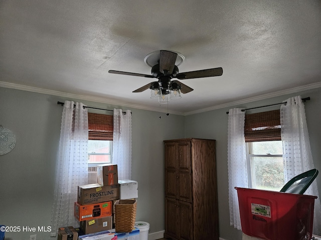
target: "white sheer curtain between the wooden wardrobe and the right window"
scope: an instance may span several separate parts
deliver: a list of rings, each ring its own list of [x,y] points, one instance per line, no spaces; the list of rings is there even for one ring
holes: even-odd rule
[[[237,191],[234,188],[248,187],[246,146],[244,138],[245,112],[241,108],[229,110],[228,117],[228,175],[230,224],[241,229]]]

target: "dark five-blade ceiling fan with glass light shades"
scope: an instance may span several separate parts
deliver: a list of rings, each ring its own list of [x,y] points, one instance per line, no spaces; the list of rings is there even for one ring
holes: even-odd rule
[[[182,93],[188,93],[194,90],[193,88],[183,84],[178,80],[172,80],[173,78],[178,78],[182,80],[182,79],[190,79],[190,78],[220,76],[223,74],[222,67],[179,73],[179,68],[176,65],[176,60],[177,60],[178,54],[180,56],[183,56],[182,54],[174,51],[168,51],[168,50],[160,50],[160,51],[157,51],[157,53],[159,53],[159,59],[157,59],[156,64],[152,65],[151,75],[127,72],[127,71],[117,71],[117,70],[109,70],[108,72],[123,74],[123,75],[131,75],[131,76],[157,78],[158,81],[152,81],[142,87],[139,87],[133,92],[142,92],[149,88],[152,90],[158,90],[163,95],[169,94],[171,91],[177,91],[177,90],[180,90]],[[146,60],[146,57],[145,57],[145,60]]]

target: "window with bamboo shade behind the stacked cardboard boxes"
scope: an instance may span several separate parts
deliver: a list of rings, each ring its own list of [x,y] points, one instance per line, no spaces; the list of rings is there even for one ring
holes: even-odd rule
[[[88,183],[97,183],[97,164],[112,162],[113,115],[88,112]]]

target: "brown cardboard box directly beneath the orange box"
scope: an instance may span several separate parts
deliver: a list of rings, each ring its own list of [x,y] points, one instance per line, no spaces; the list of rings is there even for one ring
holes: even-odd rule
[[[112,228],[112,216],[80,221],[80,228],[85,234],[109,230]]]

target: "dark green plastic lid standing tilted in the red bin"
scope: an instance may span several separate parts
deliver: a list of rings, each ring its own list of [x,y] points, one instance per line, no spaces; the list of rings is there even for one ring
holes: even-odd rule
[[[318,174],[317,169],[305,171],[289,180],[280,191],[294,194],[303,194]]]

